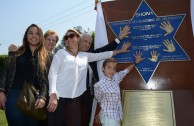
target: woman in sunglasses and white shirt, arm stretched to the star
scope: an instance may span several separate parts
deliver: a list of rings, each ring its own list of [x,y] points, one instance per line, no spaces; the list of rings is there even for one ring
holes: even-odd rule
[[[121,50],[104,53],[79,51],[80,34],[68,30],[63,37],[66,48],[54,55],[49,70],[49,126],[81,126],[80,100],[86,91],[88,62],[110,58],[129,52],[129,45]]]

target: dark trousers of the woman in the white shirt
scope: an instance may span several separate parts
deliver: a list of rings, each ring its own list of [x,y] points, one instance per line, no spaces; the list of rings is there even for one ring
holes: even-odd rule
[[[57,109],[48,113],[48,126],[81,126],[81,96],[59,98]]]

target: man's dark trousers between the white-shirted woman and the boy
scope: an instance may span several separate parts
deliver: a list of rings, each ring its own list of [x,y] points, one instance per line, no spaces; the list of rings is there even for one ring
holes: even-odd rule
[[[93,96],[90,93],[90,88],[83,93],[81,99],[81,122],[82,126],[89,126],[92,112]]]

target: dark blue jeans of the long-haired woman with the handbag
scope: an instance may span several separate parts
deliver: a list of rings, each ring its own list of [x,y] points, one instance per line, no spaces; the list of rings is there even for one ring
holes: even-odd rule
[[[6,118],[9,126],[37,126],[38,121],[24,115],[16,106],[20,89],[11,89],[6,101]]]

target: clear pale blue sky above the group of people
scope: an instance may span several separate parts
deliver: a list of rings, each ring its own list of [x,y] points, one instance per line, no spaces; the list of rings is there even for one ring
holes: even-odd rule
[[[106,2],[108,0],[101,0]],[[54,30],[61,43],[64,33],[73,27],[95,30],[95,0],[1,0],[0,55],[10,44],[22,45],[27,27],[38,24],[43,32]]]

